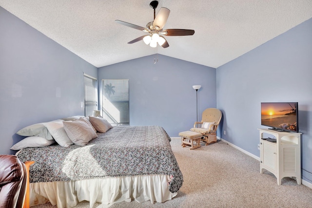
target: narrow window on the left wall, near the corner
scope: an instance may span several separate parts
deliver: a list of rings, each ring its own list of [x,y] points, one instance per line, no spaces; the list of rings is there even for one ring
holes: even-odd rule
[[[98,85],[97,79],[84,74],[84,115],[92,115],[93,110],[98,110]]]

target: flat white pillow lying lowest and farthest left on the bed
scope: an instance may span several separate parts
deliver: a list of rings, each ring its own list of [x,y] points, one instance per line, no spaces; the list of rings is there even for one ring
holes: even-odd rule
[[[41,136],[29,136],[20,140],[11,147],[11,150],[21,150],[28,147],[45,147],[55,143],[55,140],[46,140]]]

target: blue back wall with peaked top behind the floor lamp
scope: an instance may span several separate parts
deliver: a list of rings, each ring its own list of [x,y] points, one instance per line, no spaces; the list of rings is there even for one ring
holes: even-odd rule
[[[216,107],[215,69],[158,55],[141,57],[98,69],[98,80],[129,79],[130,125],[159,125],[170,136],[187,131],[209,107]],[[99,91],[101,86],[99,85]]]

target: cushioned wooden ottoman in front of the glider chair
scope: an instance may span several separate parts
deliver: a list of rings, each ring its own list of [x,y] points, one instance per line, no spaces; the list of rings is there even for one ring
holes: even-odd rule
[[[200,146],[200,138],[202,137],[201,133],[197,132],[179,132],[179,136],[181,136],[181,146],[188,147],[190,150],[194,150]]]

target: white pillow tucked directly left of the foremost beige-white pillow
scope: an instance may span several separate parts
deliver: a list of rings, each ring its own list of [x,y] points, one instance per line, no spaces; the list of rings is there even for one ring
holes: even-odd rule
[[[74,144],[72,140],[69,139],[67,133],[64,130],[63,121],[45,123],[44,125],[60,146],[69,147]]]

